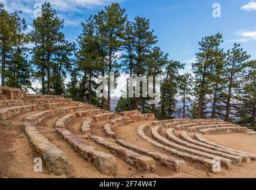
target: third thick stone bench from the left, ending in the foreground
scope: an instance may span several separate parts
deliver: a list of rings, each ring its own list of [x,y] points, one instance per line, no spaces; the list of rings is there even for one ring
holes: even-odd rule
[[[98,137],[95,135],[91,135],[90,138],[96,143],[101,145],[104,148],[108,148],[108,150],[120,156],[124,161],[129,163],[132,166],[135,166],[136,169],[140,171],[146,172],[154,172],[155,171],[155,160],[148,156],[143,156],[141,154],[135,153],[135,151],[129,150],[127,148],[121,147],[116,143],[112,143],[106,140],[103,137]]]

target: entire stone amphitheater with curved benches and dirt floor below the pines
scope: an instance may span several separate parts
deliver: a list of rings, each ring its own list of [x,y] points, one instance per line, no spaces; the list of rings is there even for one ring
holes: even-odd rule
[[[256,132],[242,126],[156,121],[7,87],[0,99],[1,178],[256,177]],[[42,172],[33,170],[36,157]]]

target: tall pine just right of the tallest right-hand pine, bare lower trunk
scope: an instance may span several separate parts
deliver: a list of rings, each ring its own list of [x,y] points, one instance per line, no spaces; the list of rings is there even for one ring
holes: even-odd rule
[[[243,51],[241,45],[234,44],[232,50],[227,52],[227,60],[224,65],[224,75],[226,76],[226,117],[225,121],[229,122],[230,102],[235,95],[235,91],[241,84],[241,77],[246,68],[246,61],[249,59],[246,51]]]

